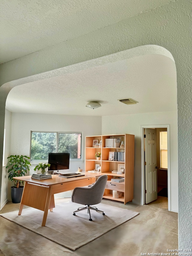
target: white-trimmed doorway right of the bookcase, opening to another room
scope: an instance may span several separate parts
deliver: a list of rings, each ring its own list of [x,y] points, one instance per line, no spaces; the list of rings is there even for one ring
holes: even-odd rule
[[[146,173],[145,173],[145,138],[144,138],[144,134],[145,134],[145,129],[154,129],[154,131],[156,130],[159,134],[159,131],[166,131],[167,130],[167,170],[163,170],[160,167],[160,163],[157,161],[157,169],[154,170],[154,175],[153,177],[156,176],[156,187],[155,187],[155,193],[157,194],[162,188],[166,188],[167,187],[167,196],[168,196],[168,210],[170,211],[171,207],[171,202],[170,202],[170,129],[169,129],[169,125],[145,125],[145,126],[141,126],[141,136],[142,136],[142,202],[141,204],[145,204],[146,203]],[[157,140],[158,141],[158,140]],[[159,143],[159,142],[158,142]],[[160,154],[160,149],[159,149],[159,144],[157,143],[157,154]],[[159,166],[158,166],[159,165]],[[159,169],[159,170],[158,170]],[[153,184],[152,184],[153,185]],[[158,185],[158,186],[157,186]],[[155,198],[155,197],[154,197]],[[167,202],[167,198],[166,197],[158,197],[158,200],[155,200],[154,203],[158,203],[158,201],[160,199],[162,199],[162,201]],[[155,198],[156,199],[156,198]],[[159,201],[160,202],[160,201]]]

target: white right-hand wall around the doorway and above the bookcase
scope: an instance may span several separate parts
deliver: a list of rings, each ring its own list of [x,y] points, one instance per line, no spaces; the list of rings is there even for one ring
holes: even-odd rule
[[[103,116],[102,135],[134,134],[134,203],[141,203],[141,125],[170,125],[171,210],[178,211],[177,111]]]

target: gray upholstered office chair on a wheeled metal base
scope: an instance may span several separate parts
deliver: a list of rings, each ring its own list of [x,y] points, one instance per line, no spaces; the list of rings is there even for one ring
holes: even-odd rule
[[[106,183],[107,183],[107,175],[102,175],[97,179],[95,183],[93,183],[92,185],[89,185],[88,187],[74,188],[73,194],[71,196],[71,201],[73,203],[80,203],[86,206],[79,207],[77,211],[73,212],[73,215],[76,215],[75,212],[79,212],[87,209],[89,213],[89,220],[92,221],[90,209],[95,210],[97,212],[103,212],[101,210],[98,210],[96,207],[91,207],[91,205],[101,203]],[[103,212],[103,215],[105,215],[104,212]]]

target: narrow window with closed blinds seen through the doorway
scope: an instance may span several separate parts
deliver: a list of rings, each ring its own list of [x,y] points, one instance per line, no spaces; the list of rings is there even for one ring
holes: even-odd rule
[[[167,131],[160,131],[160,168],[167,169]]]

